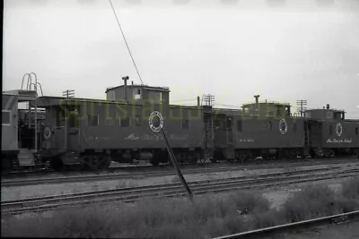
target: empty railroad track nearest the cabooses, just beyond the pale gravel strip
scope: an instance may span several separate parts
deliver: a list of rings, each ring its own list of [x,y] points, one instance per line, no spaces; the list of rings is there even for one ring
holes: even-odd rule
[[[314,162],[300,162],[300,163],[285,163],[285,164],[273,164],[273,165],[259,165],[259,166],[225,166],[225,167],[200,167],[193,169],[184,169],[183,174],[198,174],[198,173],[211,173],[211,172],[226,172],[226,171],[240,171],[244,169],[270,169],[270,168],[283,168],[285,166],[320,166],[320,165],[337,165],[349,163],[355,164],[359,161],[314,161]],[[143,178],[154,177],[163,175],[174,175],[173,170],[167,171],[153,171],[153,172],[126,172],[125,174],[107,174],[107,175],[66,175],[56,177],[38,177],[38,178],[25,178],[20,180],[3,179],[1,186],[24,186],[34,184],[65,184],[65,183],[79,183],[79,182],[92,182],[92,181],[104,181],[104,180],[117,180],[117,179],[131,179],[131,178]]]

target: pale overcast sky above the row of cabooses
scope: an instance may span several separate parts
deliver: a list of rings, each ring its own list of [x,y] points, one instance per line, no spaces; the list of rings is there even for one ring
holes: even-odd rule
[[[260,94],[359,118],[357,0],[112,3],[144,84],[170,87],[173,103],[211,93],[217,107],[241,106]],[[122,76],[140,83],[109,1],[5,0],[3,48],[3,90],[30,72],[45,95],[105,98]]]

